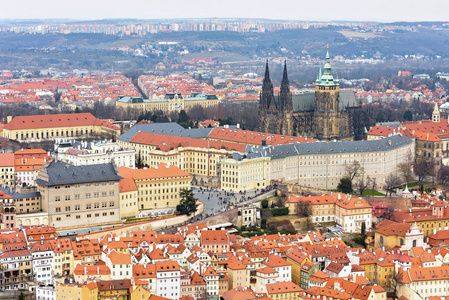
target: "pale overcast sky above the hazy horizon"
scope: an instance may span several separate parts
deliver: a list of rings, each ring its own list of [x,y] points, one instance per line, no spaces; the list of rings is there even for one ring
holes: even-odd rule
[[[449,0],[0,0],[0,19],[448,21]]]

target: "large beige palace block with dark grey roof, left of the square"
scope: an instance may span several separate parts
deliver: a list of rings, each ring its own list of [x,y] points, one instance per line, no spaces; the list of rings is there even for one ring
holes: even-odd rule
[[[51,161],[36,180],[48,223],[60,229],[120,222],[120,179],[112,163],[73,166]]]

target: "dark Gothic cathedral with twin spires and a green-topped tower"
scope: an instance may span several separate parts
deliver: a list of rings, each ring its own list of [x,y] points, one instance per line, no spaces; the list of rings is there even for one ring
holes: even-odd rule
[[[359,108],[354,92],[340,91],[338,79],[332,76],[329,49],[315,92],[292,95],[285,63],[279,95],[275,96],[267,62],[260,93],[258,131],[324,141],[353,140],[353,116]]]

